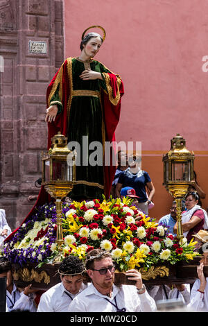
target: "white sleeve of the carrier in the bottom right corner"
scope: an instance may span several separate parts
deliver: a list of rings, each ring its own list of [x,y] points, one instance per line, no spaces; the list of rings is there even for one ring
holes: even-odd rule
[[[191,311],[202,311],[204,308],[204,294],[199,292],[200,280],[196,280],[191,289],[190,302],[187,308]]]

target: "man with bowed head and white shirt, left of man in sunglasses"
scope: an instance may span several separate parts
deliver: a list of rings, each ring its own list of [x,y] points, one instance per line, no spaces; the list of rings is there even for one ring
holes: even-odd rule
[[[62,282],[42,294],[37,312],[67,312],[73,298],[87,287],[83,284],[84,272],[83,261],[75,256],[66,257],[58,268]]]

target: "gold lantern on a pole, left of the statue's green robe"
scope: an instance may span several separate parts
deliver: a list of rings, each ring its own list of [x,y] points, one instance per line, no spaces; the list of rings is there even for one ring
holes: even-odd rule
[[[67,138],[58,132],[52,139],[51,148],[46,155],[42,155],[42,185],[51,197],[55,198],[57,214],[57,234],[59,255],[55,262],[60,260],[61,246],[64,242],[62,234],[62,198],[73,189],[76,183],[76,151],[67,147]]]

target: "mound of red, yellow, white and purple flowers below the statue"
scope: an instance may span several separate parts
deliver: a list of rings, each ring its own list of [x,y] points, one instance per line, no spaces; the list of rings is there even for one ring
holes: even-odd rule
[[[90,200],[62,204],[62,259],[101,248],[111,253],[119,271],[131,268],[189,261],[196,242],[178,241],[168,228],[159,225],[133,206],[130,198]],[[4,248],[4,255],[19,265],[52,263],[58,255],[55,243],[55,205],[39,207],[35,216],[21,225]]]

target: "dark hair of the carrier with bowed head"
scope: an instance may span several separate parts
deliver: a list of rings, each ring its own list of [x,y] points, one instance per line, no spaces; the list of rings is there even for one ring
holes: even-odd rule
[[[67,256],[62,260],[58,268],[61,275],[78,275],[85,271],[84,262],[76,256]]]

